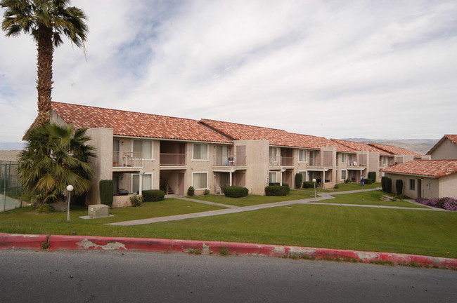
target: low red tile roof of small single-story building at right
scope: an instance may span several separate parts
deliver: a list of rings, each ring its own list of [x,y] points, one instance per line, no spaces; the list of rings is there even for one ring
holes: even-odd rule
[[[457,173],[457,160],[413,160],[389,166],[381,171],[385,173],[423,175],[439,178]]]

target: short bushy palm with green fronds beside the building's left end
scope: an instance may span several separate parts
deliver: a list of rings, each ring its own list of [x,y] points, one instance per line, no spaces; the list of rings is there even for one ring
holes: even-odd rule
[[[89,191],[94,170],[94,147],[86,144],[86,129],[45,123],[25,134],[27,146],[19,156],[22,187],[35,199],[35,206],[65,201],[65,187],[72,184],[75,196]]]

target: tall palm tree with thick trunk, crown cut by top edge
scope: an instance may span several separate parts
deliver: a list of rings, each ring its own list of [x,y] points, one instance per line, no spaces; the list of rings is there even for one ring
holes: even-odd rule
[[[86,15],[70,0],[1,0],[5,8],[1,29],[6,36],[21,32],[32,35],[37,42],[38,117],[41,125],[51,119],[52,64],[54,47],[67,36],[76,46],[83,47],[88,32]]]

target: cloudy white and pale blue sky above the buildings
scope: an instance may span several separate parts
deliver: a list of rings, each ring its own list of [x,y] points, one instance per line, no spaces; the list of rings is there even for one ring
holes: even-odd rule
[[[455,0],[72,5],[86,55],[55,50],[54,101],[328,138],[457,133]],[[36,117],[36,59],[30,36],[0,32],[0,142]]]

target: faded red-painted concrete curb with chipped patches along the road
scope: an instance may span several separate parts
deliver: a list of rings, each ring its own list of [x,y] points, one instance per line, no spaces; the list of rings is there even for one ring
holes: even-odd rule
[[[304,248],[287,245],[233,243],[218,241],[169,240],[157,238],[122,238],[103,236],[46,236],[0,234],[0,248],[47,247],[52,250],[132,250],[174,253],[202,253],[204,255],[258,255],[273,257],[302,257],[313,260],[342,260],[349,262],[375,262],[420,267],[457,269],[457,259],[375,253],[328,248]]]

